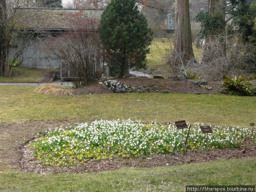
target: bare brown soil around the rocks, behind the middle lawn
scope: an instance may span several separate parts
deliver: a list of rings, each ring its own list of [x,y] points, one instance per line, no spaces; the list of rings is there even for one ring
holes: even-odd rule
[[[212,90],[206,90],[200,86],[195,86],[191,83],[192,80],[173,80],[173,79],[152,79],[144,77],[130,77],[124,79],[117,79],[122,83],[127,83],[131,87],[146,85],[150,89],[150,93],[154,93],[153,87],[157,86],[161,93],[162,91],[168,90],[170,93],[181,93],[181,94],[216,94],[217,89],[221,88],[221,82],[214,81],[208,82],[207,86],[212,87]],[[75,95],[82,94],[109,94],[113,93],[103,88],[102,84],[91,84],[90,86],[73,90]]]

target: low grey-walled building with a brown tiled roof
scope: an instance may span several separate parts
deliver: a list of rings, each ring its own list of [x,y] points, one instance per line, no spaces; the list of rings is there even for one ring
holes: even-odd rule
[[[96,30],[103,10],[73,8],[19,8],[15,14],[15,30],[18,34],[16,52],[19,66],[36,68],[60,68],[60,58],[42,52],[45,47],[39,42],[46,37],[56,37],[62,33],[72,33],[78,29],[79,19],[93,20],[90,29]]]

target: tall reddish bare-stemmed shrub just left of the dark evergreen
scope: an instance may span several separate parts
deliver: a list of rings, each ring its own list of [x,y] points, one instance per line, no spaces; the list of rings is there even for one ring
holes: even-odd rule
[[[48,41],[50,51],[64,61],[69,70],[68,78],[79,88],[95,83],[102,75],[101,49],[96,21],[78,19],[77,29]]]

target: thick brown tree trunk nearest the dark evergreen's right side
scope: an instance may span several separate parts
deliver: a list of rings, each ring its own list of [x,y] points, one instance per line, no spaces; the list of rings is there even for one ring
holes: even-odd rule
[[[183,55],[184,61],[194,58],[189,17],[189,1],[176,0],[176,41],[174,54]]]

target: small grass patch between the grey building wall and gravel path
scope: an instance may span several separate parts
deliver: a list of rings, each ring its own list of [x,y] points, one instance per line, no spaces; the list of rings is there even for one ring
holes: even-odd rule
[[[1,83],[40,83],[44,75],[53,69],[32,69],[27,67],[13,67],[10,78],[1,77]]]

